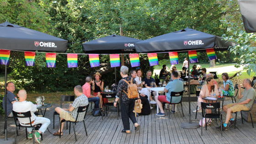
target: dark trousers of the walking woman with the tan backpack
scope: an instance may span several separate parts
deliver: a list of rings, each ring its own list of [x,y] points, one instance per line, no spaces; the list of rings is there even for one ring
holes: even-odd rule
[[[121,116],[123,121],[123,129],[130,130],[130,120],[134,123],[137,123],[133,109],[135,105],[136,98],[129,99],[127,101],[121,100]]]

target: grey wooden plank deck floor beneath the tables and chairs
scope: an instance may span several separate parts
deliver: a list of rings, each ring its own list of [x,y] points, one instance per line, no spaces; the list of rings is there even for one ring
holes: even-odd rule
[[[232,103],[231,100],[224,101],[224,104]],[[54,104],[53,107],[48,108],[46,117],[51,120],[48,126],[51,132],[56,132],[59,128],[58,117],[55,117],[55,129],[53,129],[53,111],[59,106]],[[197,102],[191,102],[191,110],[195,110]],[[91,108],[91,107],[90,107]],[[171,114],[168,118],[165,110],[165,117],[156,116],[156,109],[152,109],[152,113],[148,116],[137,117],[141,128],[135,133],[133,123],[130,121],[131,133],[121,133],[123,124],[121,120],[121,113],[119,120],[117,120],[117,112],[109,112],[108,117],[93,117],[91,109],[85,117],[85,125],[88,136],[85,134],[83,123],[75,125],[77,134],[77,142],[75,142],[74,131],[71,126],[71,133],[64,127],[64,136],[59,139],[53,136],[48,131],[43,134],[42,144],[256,144],[256,130],[252,128],[251,123],[241,122],[240,113],[238,113],[237,128],[229,128],[224,131],[223,137],[221,133],[216,130],[217,124],[215,121],[208,126],[207,131],[203,129],[203,136],[201,136],[201,128],[184,129],[181,128],[181,123],[188,122],[188,102],[183,102],[183,110],[185,117],[181,115],[181,107],[178,106],[178,112]],[[223,120],[225,120],[225,113],[223,113]],[[201,113],[197,114],[195,119],[194,112],[192,114],[192,121],[199,123]],[[233,115],[235,116],[235,115]],[[218,121],[218,123],[220,123]],[[8,138],[15,136],[15,123],[12,118],[8,118]],[[17,137],[18,144],[32,144],[32,140],[26,139],[25,128],[21,128],[19,136]],[[0,116],[0,139],[4,139],[4,117]]]

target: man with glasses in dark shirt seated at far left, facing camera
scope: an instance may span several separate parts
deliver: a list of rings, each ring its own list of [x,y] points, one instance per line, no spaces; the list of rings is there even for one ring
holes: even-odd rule
[[[18,101],[16,96],[13,94],[13,92],[15,91],[15,86],[12,82],[8,82],[6,84],[6,89],[7,89],[7,99],[6,99],[6,109],[7,109],[7,117],[13,117],[12,116],[12,105],[14,102]],[[5,110],[5,96],[3,98],[2,101],[4,110]]]

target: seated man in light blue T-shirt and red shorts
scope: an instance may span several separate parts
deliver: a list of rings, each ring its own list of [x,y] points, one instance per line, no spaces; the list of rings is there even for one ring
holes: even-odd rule
[[[170,81],[164,89],[164,92],[167,92],[166,96],[155,96],[155,101],[158,105],[158,107],[160,108],[160,112],[157,113],[157,116],[165,116],[165,112],[163,110],[163,106],[161,102],[165,102],[165,103],[171,103],[171,102],[179,102],[181,100],[181,97],[173,97],[171,99],[171,92],[180,92],[183,91],[183,82],[181,80],[179,80],[178,78],[178,73],[176,71],[171,72],[171,79],[172,81]],[[174,107],[173,107],[174,108]],[[174,110],[171,110],[172,113],[175,113]]]

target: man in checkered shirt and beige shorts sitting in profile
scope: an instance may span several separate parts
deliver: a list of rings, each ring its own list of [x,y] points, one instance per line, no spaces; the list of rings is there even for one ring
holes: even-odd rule
[[[88,102],[88,98],[87,96],[85,96],[83,94],[83,88],[81,85],[76,85],[74,88],[74,92],[75,92],[75,96],[77,96],[77,98],[75,99],[75,101],[69,104],[69,108],[60,108],[60,107],[56,107],[55,108],[55,112],[59,113],[59,122],[61,122],[61,120],[66,120],[66,121],[72,121],[75,122],[76,116],[77,116],[77,110],[78,107],[82,107],[82,106],[87,106],[89,104]],[[77,121],[80,122],[84,119],[85,117],[85,112],[83,112],[82,114],[79,114]],[[61,129],[59,128],[58,132],[53,133],[53,135],[63,135],[62,130],[64,127],[64,123],[61,123]]]

